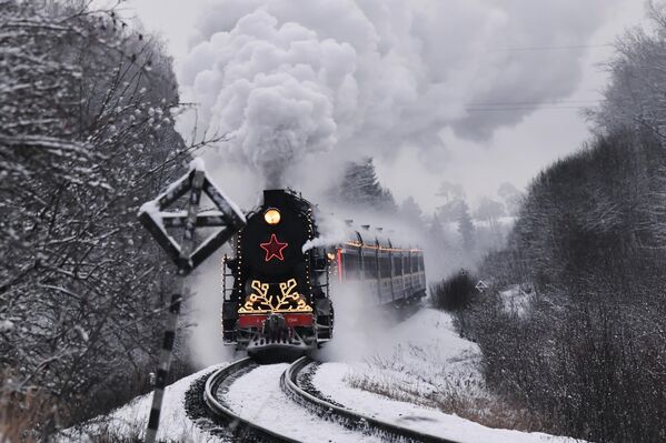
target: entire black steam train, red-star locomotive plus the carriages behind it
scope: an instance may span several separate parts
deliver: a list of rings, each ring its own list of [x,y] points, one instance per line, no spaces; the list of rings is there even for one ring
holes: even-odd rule
[[[258,359],[316,349],[332,338],[332,279],[340,290],[360,284],[369,306],[400,306],[425,295],[423,252],[401,249],[368,225],[356,230],[348,221],[346,241],[308,248],[319,236],[315,209],[294,191],[267,190],[248,214],[233,239],[235,255],[222,263],[225,344]]]

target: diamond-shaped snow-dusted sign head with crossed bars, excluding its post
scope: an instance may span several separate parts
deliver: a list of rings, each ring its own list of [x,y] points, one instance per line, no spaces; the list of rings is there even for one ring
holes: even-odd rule
[[[190,191],[190,197],[187,211],[162,212],[188,191]],[[212,201],[217,211],[198,213],[201,191]],[[190,163],[189,172],[172,183],[163,193],[145,203],[139,210],[139,220],[167,252],[167,255],[178,265],[181,274],[190,273],[246,223],[242,212],[206,175],[203,161],[200,159],[193,160]],[[195,248],[195,229],[210,226],[221,226],[222,229]],[[167,228],[185,228],[182,244],[169,235]]]

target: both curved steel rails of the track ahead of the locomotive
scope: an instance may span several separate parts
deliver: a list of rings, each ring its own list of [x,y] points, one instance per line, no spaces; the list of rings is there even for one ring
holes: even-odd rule
[[[312,360],[304,356],[289,365],[289,368],[282,372],[280,377],[281,390],[287,396],[307,411],[310,411],[327,421],[335,421],[342,426],[361,434],[377,435],[381,440],[389,442],[457,443],[451,440],[426,434],[357,413],[342,405],[307,392],[304,387],[299,386],[298,375],[307,366],[314,363]],[[252,423],[249,420],[242,419],[225,403],[223,395],[220,394],[220,391],[223,391],[225,389],[225,383],[232,383],[235,377],[250,371],[252,366],[256,366],[256,363],[248,358],[238,360],[213,372],[206,382],[203,401],[216,417],[225,424],[231,436],[238,439],[238,441],[299,442],[298,440],[281,435],[267,427]]]

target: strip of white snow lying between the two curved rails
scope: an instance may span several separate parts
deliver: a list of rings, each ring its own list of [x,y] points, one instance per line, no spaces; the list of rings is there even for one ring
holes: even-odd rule
[[[304,443],[382,441],[320,419],[294,403],[280,389],[280,375],[287,368],[287,363],[270,364],[240,376],[225,396],[231,410],[246,420]]]

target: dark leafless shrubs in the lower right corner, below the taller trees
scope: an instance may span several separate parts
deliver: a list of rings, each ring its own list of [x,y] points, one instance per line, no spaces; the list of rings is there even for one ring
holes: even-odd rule
[[[596,442],[664,441],[664,312],[606,292],[581,299],[541,294],[518,316],[491,293],[456,312],[456,323],[481,349],[488,387],[535,414],[541,431]]]

